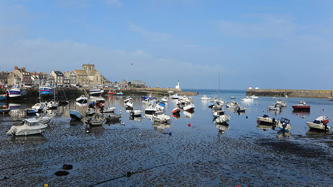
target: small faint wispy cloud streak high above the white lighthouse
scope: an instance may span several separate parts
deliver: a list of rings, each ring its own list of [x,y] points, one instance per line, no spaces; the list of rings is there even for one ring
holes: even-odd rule
[[[171,39],[171,37],[172,37],[172,35],[169,35],[169,34],[148,31],[131,22],[128,24],[128,26],[130,27],[130,30],[132,30],[136,33],[139,33],[140,35],[142,35],[142,37],[144,37],[145,39],[147,39],[151,42],[162,42],[167,39]]]

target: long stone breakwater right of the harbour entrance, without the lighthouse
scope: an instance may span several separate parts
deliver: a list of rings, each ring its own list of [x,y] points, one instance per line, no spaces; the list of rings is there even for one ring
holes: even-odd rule
[[[332,98],[333,90],[311,89],[247,89],[246,96],[274,96],[291,98]]]

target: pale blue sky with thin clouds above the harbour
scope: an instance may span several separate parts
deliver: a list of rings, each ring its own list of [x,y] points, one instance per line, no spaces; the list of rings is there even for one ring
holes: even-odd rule
[[[333,1],[0,1],[0,70],[113,81],[333,89]],[[133,63],[131,65],[130,63]]]

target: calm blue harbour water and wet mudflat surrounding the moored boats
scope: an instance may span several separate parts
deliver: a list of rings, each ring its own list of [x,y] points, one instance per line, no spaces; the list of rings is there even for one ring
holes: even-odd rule
[[[121,113],[121,123],[91,127],[89,133],[83,123],[70,122],[71,109],[83,111],[86,107],[74,102],[49,111],[55,118],[41,136],[6,136],[18,122],[12,122],[16,119],[9,115],[0,116],[0,185],[333,185],[333,136],[311,132],[305,123],[321,115],[333,118],[333,102],[304,98],[311,112],[296,114],[291,105],[303,99],[284,98],[288,107],[279,114],[267,110],[278,98],[259,97],[244,103],[245,91],[223,90],[225,102],[234,96],[233,100],[246,107],[240,115],[225,109],[231,120],[223,126],[213,123],[210,102],[200,101],[203,94],[218,96],[216,90],[198,91],[199,96],[193,97],[194,113],[182,111],[180,118],[171,117],[169,125],[155,124],[147,115],[130,118],[123,105],[125,96],[105,98],[105,106],[115,106],[116,113]],[[139,96],[134,100],[135,109],[144,109]],[[174,102],[169,99],[166,114],[171,115]],[[32,104],[0,105],[24,108]],[[289,118],[291,132],[257,127],[256,117],[264,114]],[[73,170],[56,177],[53,173],[64,163],[72,164]],[[126,177],[128,172],[132,175]]]

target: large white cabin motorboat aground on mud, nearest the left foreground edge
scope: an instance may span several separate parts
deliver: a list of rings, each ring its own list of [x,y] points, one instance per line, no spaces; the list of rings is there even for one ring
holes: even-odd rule
[[[47,125],[40,123],[36,118],[26,118],[24,125],[12,126],[6,134],[14,134],[16,136],[27,136],[31,134],[40,134],[44,132]]]

